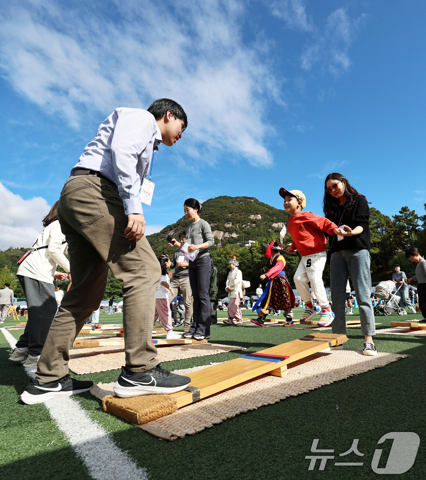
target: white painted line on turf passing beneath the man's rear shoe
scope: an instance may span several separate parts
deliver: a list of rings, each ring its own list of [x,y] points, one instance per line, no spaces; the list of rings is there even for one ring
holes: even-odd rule
[[[5,328],[0,328],[0,331],[15,348],[16,338]],[[25,370],[34,377],[36,367]],[[148,480],[146,469],[139,468],[126,452],[120,450],[108,432],[89,417],[79,402],[64,396],[44,403],[94,480]]]

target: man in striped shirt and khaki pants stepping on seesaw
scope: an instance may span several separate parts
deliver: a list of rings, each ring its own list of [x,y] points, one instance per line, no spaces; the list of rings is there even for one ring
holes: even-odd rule
[[[123,281],[126,366],[114,386],[122,397],[174,393],[191,382],[161,369],[151,342],[161,269],[144,236],[139,197],[159,144],[172,146],[187,126],[184,109],[156,100],[148,110],[116,108],[86,145],[61,192],[58,220],[68,242],[72,288],[64,295],[25,403],[87,391],[70,379],[69,348],[104,298],[111,270]]]

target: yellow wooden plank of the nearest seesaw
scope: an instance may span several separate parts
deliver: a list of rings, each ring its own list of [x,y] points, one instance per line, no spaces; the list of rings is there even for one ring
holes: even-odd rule
[[[288,363],[309,357],[309,355],[324,348],[329,348],[329,342],[332,345],[336,345],[334,339],[324,341],[299,339],[277,345],[276,347],[266,348],[266,350],[261,350],[256,352],[256,354],[265,355],[265,358],[277,356],[274,360],[259,360],[254,357],[240,357],[229,360],[209,367],[207,369],[208,372],[200,370],[199,372],[191,373],[190,386],[199,390],[200,399],[206,398],[264,373],[278,370],[287,366]],[[250,354],[245,357],[250,357]],[[279,360],[280,357],[283,360]],[[171,396],[176,399],[178,408],[193,403],[193,393],[186,390],[174,393]]]

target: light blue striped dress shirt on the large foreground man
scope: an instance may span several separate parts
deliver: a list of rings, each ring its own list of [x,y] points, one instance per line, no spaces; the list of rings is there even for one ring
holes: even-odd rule
[[[100,172],[117,186],[126,215],[141,214],[140,185],[161,140],[160,129],[150,112],[116,108],[86,145],[71,175],[77,169]]]

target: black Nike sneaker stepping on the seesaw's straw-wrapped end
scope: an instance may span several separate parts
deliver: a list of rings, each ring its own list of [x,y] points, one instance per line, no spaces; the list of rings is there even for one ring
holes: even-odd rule
[[[147,372],[129,372],[121,367],[121,375],[114,385],[116,396],[128,398],[138,395],[171,394],[184,390],[191,383],[189,377],[163,370],[160,365]]]

